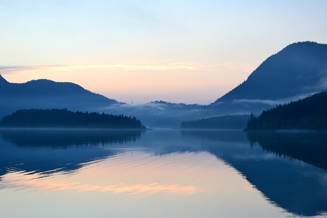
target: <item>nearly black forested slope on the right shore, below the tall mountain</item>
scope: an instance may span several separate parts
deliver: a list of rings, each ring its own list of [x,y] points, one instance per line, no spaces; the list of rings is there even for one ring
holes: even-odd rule
[[[327,130],[327,92],[250,115],[246,130]]]

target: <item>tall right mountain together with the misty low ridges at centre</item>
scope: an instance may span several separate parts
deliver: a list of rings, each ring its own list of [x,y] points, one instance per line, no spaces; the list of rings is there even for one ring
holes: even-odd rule
[[[260,114],[327,88],[327,44],[297,42],[270,56],[248,79],[209,105],[155,101],[111,105],[107,113],[135,115],[148,127],[179,127],[183,121],[235,114]],[[113,112],[114,111],[114,112]]]

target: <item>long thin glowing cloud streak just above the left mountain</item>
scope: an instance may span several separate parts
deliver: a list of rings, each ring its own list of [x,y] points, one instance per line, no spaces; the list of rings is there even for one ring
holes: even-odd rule
[[[111,68],[123,70],[173,70],[173,69],[194,69],[194,66],[185,64],[164,64],[164,65],[132,65],[132,64],[109,64],[109,65],[50,65],[50,66],[0,66],[1,74],[11,74],[17,71],[25,70],[79,70],[79,69],[95,69],[95,68]]]

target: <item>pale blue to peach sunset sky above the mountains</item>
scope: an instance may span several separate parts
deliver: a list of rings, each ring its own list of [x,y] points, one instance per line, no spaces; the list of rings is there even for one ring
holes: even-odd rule
[[[298,41],[327,43],[327,1],[0,0],[0,74],[128,104],[209,104]]]

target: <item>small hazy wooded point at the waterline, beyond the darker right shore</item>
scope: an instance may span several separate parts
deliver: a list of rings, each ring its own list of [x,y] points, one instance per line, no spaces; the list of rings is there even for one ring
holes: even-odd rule
[[[182,129],[244,129],[249,120],[248,114],[226,115],[182,122]]]

